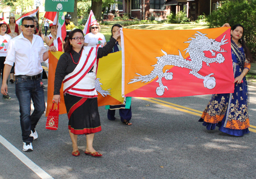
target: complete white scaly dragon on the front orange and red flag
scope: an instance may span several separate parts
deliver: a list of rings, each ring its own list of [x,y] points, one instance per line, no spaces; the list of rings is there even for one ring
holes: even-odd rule
[[[203,62],[206,63],[207,66],[210,66],[209,63],[223,63],[225,58],[221,54],[222,52],[227,52],[224,49],[221,48],[222,45],[228,43],[226,42],[227,39],[224,40],[225,36],[223,36],[221,42],[216,41],[215,39],[209,39],[206,37],[207,34],[203,34],[201,32],[198,32],[198,34],[195,34],[194,37],[188,38],[191,39],[189,41],[186,41],[184,43],[189,43],[188,47],[184,50],[186,50],[186,54],[188,53],[190,56],[190,60],[186,60],[182,57],[180,50],[179,55],[168,55],[164,50],[162,52],[164,53],[164,56],[162,57],[156,57],[158,59],[157,64],[152,65],[155,66],[154,70],[151,71],[150,74],[147,75],[141,75],[139,73],[136,73],[139,76],[134,76],[135,79],[131,79],[131,82],[128,84],[132,84],[135,82],[150,82],[151,80],[155,79],[156,76],[158,76],[158,80],[156,81],[159,83],[159,87],[156,88],[156,94],[158,96],[162,96],[164,94],[164,89],[166,88],[168,90],[167,86],[164,86],[162,83],[162,78],[165,78],[166,80],[172,80],[173,79],[173,73],[172,72],[166,72],[165,70],[163,72],[163,68],[165,65],[173,65],[178,67],[185,67],[188,69],[191,69],[189,74],[193,74],[198,79],[203,79],[204,87],[208,89],[212,89],[216,86],[216,80],[214,77],[211,77],[210,75],[214,73],[210,73],[206,76],[203,76],[198,73],[198,71],[202,68]],[[183,51],[184,51],[183,50]],[[217,52],[220,52],[217,54],[216,58],[208,58],[205,57],[204,51],[209,51],[211,53],[211,56],[215,56]]]

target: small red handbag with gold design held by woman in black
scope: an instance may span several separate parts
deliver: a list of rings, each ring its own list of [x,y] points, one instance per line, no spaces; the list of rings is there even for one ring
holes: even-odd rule
[[[58,108],[56,110],[53,109],[54,103],[52,104],[52,109],[50,109],[50,112],[47,116],[46,120],[46,129],[49,130],[57,130],[58,129],[58,123],[59,123],[59,103]]]

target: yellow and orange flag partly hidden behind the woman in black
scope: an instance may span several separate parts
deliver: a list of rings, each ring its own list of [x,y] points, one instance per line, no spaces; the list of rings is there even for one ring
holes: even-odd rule
[[[59,57],[63,52],[49,52],[49,72],[48,72],[48,92],[47,92],[47,110],[48,116],[52,108],[52,99],[54,92],[55,69]],[[119,105],[123,103],[124,98],[121,95],[122,81],[122,55],[121,52],[109,54],[99,59],[97,79],[95,85],[100,86],[97,89],[98,106]],[[56,105],[55,107],[56,108]],[[63,97],[63,84],[60,88],[59,114],[65,114],[66,106]]]

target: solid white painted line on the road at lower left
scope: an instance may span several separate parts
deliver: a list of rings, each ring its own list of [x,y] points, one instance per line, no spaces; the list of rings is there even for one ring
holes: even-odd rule
[[[20,161],[27,165],[33,172],[35,172],[42,179],[53,179],[45,170],[41,169],[38,165],[32,162],[27,156],[25,156],[21,151],[14,147],[10,142],[8,142],[3,136],[0,135],[0,143],[2,143],[8,150],[12,152]]]

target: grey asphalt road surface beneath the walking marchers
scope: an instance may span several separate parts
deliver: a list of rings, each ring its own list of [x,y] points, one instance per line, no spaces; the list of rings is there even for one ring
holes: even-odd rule
[[[108,120],[100,107],[102,131],[95,134],[94,148],[103,157],[93,158],[83,154],[85,136],[78,137],[81,155],[71,155],[66,114],[60,115],[57,131],[46,130],[42,116],[34,151],[23,152],[14,86],[9,84],[11,100],[0,99],[1,179],[256,178],[256,129],[243,137],[207,131],[198,119],[210,95],[133,98],[131,126],[121,123],[118,113],[115,121]],[[249,89],[250,124],[256,126],[256,87]]]

